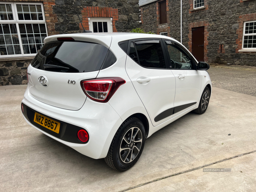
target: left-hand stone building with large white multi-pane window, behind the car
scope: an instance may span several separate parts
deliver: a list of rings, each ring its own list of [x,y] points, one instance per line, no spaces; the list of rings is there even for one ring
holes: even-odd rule
[[[26,84],[26,69],[49,35],[129,32],[138,0],[0,0],[0,85]]]

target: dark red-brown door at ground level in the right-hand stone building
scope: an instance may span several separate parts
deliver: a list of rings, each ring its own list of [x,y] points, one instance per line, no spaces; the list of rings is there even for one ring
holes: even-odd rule
[[[192,28],[192,54],[204,61],[204,26]]]

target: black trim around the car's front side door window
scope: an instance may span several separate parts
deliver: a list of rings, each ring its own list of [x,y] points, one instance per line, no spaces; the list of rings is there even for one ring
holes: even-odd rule
[[[168,61],[168,69],[170,69],[170,70],[196,70],[196,66],[197,66],[197,62],[195,61],[195,59],[192,57],[192,54],[190,53],[190,52],[188,52],[186,49],[184,49],[180,44],[177,44],[175,41],[172,41],[172,40],[170,40],[170,39],[162,39],[162,41],[163,41],[163,44],[164,44],[164,49],[165,49],[165,53],[166,53],[166,55],[167,55],[167,61]],[[167,44],[166,44],[166,42],[165,41],[170,41],[170,42],[172,42],[172,44],[175,46],[175,47],[177,47],[179,50],[180,50],[180,52],[183,52],[183,54],[185,54],[185,55],[187,55],[187,56],[189,56],[189,58],[191,59],[191,61],[192,61],[192,69],[175,69],[175,68],[170,68],[169,66],[171,65],[171,60],[170,60],[170,55],[169,55],[169,52],[168,52],[168,48],[167,48]]]

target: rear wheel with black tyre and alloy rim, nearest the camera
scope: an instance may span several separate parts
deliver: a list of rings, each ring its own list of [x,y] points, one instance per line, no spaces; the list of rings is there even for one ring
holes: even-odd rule
[[[117,130],[105,162],[113,169],[124,172],[137,163],[145,145],[145,128],[140,119],[126,119]]]

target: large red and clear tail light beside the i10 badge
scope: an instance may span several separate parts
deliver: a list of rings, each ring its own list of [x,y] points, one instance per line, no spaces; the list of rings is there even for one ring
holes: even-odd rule
[[[125,84],[125,80],[119,77],[81,81],[84,93],[90,99],[103,103],[108,102],[122,84]]]

